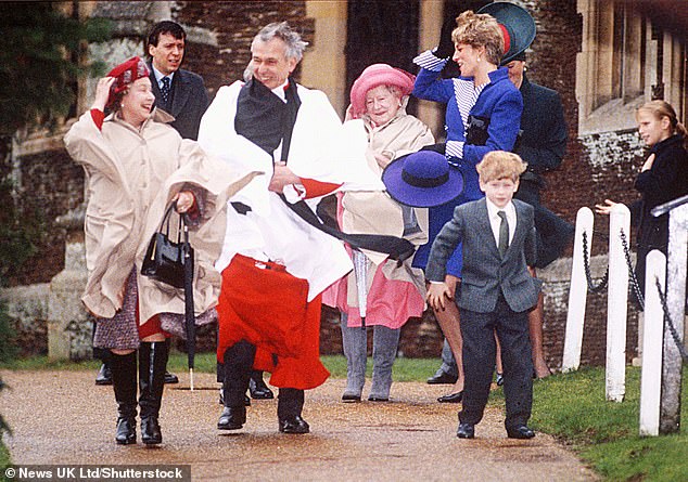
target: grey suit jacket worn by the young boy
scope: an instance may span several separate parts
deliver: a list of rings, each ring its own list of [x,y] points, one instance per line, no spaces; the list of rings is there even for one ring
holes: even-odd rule
[[[504,259],[489,225],[485,198],[457,206],[453,219],[435,238],[425,269],[429,281],[443,282],[447,259],[462,243],[463,268],[457,304],[466,310],[488,313],[495,310],[499,292],[515,312],[537,303],[542,282],[527,265],[535,262],[535,224],[533,207],[513,199],[517,226]]]

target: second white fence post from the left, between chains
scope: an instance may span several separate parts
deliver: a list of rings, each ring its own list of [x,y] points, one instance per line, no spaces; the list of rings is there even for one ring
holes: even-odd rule
[[[609,286],[607,288],[607,400],[623,402],[626,393],[626,315],[628,265],[621,240],[630,247],[630,211],[619,203],[609,220]]]

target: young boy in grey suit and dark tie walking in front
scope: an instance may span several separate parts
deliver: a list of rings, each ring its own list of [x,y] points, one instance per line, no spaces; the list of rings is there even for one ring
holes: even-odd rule
[[[476,166],[485,198],[457,207],[432,245],[425,277],[428,302],[444,310],[453,302],[444,283],[447,259],[462,243],[463,269],[457,294],[463,336],[463,408],[457,437],[473,439],[483,418],[501,343],[507,415],[511,439],[531,439],[533,362],[527,313],[537,303],[540,282],[527,271],[535,263],[533,207],[513,199],[526,164],[512,153],[495,151]]]

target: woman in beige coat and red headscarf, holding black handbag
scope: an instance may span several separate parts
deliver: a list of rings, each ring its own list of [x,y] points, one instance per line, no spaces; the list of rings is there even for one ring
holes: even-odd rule
[[[89,277],[82,301],[97,318],[93,346],[113,354],[115,441],[123,445],[136,443],[137,352],[141,440],[162,442],[158,413],[169,350],[163,326],[183,318],[183,291],[140,275],[149,240],[170,203],[177,213],[188,213],[196,316],[212,320],[220,285],[213,261],[225,234],[219,214],[226,198],[254,175],[238,179],[195,142],[182,141],[167,125],[174,118],[154,109],[154,102],[148,67],[132,57],[99,80],[92,108],[65,135],[69,155],[86,171]],[[113,112],[107,117],[106,106]]]

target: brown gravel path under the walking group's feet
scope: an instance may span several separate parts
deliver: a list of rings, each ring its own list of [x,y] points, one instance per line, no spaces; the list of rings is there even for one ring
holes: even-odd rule
[[[277,402],[254,401],[247,424],[216,429],[218,383],[196,375],[167,386],[163,444],[114,443],[111,387],[95,387],[90,372],[0,372],[11,387],[0,413],[14,464],[191,464],[193,481],[587,481],[597,480],[551,437],[506,438],[500,411],[488,411],[476,439],[456,438],[458,405],[435,399],[447,386],[397,382],[391,403],[343,404],[344,380],[306,393],[311,433],[277,431]]]

